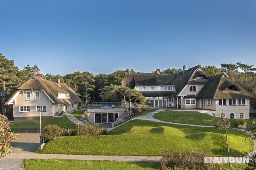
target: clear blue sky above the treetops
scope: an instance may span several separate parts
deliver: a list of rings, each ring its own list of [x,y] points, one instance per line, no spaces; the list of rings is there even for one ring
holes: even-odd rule
[[[255,0],[0,0],[0,53],[20,69],[256,65]]]

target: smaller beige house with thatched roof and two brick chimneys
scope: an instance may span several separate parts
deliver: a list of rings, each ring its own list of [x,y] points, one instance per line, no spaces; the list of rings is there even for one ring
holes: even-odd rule
[[[57,111],[74,111],[81,102],[66,83],[56,79],[54,82],[44,79],[43,74],[33,75],[21,85],[6,102],[13,105],[14,120],[51,118]]]

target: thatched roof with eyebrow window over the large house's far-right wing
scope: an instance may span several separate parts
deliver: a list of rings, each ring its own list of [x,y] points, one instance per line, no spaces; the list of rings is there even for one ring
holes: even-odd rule
[[[235,86],[238,91],[229,90],[230,85]],[[209,77],[207,83],[198,94],[197,99],[252,99],[254,96],[238,85],[236,82],[225,76],[218,74]]]

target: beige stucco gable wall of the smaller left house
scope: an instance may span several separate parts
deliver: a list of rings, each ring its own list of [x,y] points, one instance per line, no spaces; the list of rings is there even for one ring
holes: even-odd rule
[[[31,92],[31,99],[26,100],[26,91]],[[52,103],[49,103],[48,97],[41,93],[40,90],[40,100],[35,100],[35,91],[34,94],[32,94],[31,90],[24,90],[24,95],[22,91],[15,99],[15,105],[13,105],[13,117],[37,117],[39,116],[39,112],[35,112],[35,106],[36,105],[46,105],[46,112],[41,112],[41,116],[54,116],[54,113],[52,112]],[[19,106],[30,106],[30,112],[20,112]]]

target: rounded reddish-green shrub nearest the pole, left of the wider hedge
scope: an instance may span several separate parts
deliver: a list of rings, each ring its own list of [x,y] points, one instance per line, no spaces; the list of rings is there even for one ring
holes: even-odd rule
[[[63,136],[65,130],[61,127],[58,127],[55,124],[47,125],[43,128],[42,133],[44,134],[44,141],[48,142],[50,139],[54,137]]]

